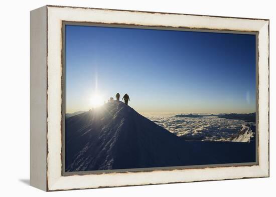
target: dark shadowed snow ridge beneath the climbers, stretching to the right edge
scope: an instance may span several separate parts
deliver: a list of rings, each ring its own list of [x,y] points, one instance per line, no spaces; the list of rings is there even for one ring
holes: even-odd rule
[[[185,141],[120,101],[67,118],[65,141],[66,171],[250,162],[254,159],[250,143]]]

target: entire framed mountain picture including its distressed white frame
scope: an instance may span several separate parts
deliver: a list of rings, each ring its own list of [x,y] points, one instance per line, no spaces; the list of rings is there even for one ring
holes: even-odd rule
[[[269,21],[31,11],[31,185],[269,176]]]

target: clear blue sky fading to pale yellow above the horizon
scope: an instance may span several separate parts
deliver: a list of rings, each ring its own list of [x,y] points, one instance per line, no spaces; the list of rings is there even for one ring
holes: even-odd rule
[[[138,112],[255,112],[255,72],[255,35],[66,25],[67,113],[96,86]]]

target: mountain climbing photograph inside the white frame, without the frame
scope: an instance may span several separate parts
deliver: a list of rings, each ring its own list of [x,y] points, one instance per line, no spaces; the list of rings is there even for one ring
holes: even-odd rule
[[[257,34],[63,24],[64,172],[257,164]]]

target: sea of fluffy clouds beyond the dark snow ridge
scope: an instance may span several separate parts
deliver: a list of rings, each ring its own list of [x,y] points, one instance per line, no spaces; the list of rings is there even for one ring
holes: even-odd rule
[[[175,117],[176,114],[144,113],[143,115],[186,140],[229,141],[238,133],[242,125],[248,124],[243,120],[208,115],[198,118]]]

